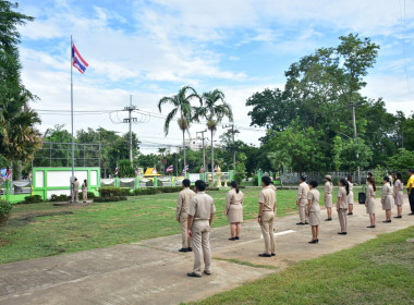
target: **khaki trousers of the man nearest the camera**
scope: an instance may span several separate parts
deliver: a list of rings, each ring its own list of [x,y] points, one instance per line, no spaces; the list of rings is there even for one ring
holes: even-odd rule
[[[208,220],[197,220],[193,222],[193,253],[194,268],[193,272],[202,276],[202,260],[204,257],[204,270],[211,272],[211,253],[210,253],[210,224]]]

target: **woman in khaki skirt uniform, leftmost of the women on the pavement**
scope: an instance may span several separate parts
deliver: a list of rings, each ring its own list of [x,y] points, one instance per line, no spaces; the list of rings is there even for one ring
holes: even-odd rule
[[[239,241],[240,233],[242,232],[243,222],[243,193],[239,190],[235,181],[230,183],[230,191],[226,197],[226,211],[227,219],[230,223],[231,237],[229,241]]]

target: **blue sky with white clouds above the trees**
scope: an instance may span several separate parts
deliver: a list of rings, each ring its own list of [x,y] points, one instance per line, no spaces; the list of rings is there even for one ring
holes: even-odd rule
[[[159,113],[160,98],[185,85],[198,93],[221,89],[241,132],[236,138],[258,145],[265,133],[249,127],[246,99],[283,88],[290,64],[337,46],[338,37],[350,33],[380,46],[363,94],[383,98],[389,112],[414,111],[414,0],[22,0],[19,5],[35,17],[20,27],[20,51],[22,81],[39,97],[32,108],[39,110],[42,132],[56,124],[71,127],[71,35],[89,64],[84,75],[73,70],[74,129],[126,133],[127,124],[120,122],[127,112],[110,111],[129,106],[132,96],[132,103],[149,113],[133,114],[143,152],[182,142],[175,122],[166,137],[163,118],[153,113]],[[193,124],[191,136],[203,130]]]

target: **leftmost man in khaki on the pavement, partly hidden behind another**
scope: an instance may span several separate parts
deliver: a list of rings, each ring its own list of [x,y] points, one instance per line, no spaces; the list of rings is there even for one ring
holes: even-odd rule
[[[194,197],[195,193],[190,190],[190,180],[183,180],[183,191],[180,192],[179,198],[176,199],[176,211],[175,219],[181,224],[181,236],[182,236],[182,247],[180,252],[192,252],[190,246],[190,239],[187,232],[187,208],[190,206],[190,200]]]

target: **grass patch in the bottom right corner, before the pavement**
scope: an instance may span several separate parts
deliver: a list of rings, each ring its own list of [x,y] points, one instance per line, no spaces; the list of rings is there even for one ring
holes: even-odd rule
[[[192,304],[414,304],[414,227]]]

